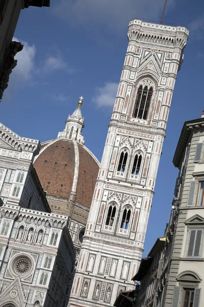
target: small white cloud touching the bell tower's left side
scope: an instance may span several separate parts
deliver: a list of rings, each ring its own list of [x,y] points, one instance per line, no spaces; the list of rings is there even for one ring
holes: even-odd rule
[[[107,82],[103,87],[96,87],[96,94],[92,101],[98,107],[112,107],[115,102],[117,89],[118,83],[116,82]]]

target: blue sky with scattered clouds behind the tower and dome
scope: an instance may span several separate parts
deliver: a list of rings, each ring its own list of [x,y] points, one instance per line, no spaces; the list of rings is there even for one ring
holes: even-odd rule
[[[86,146],[101,159],[134,18],[160,20],[164,0],[50,0],[50,8],[21,11],[15,37],[24,48],[1,103],[1,122],[17,134],[53,139],[83,95]],[[177,169],[172,159],[182,126],[204,109],[204,3],[169,0],[164,24],[190,30],[177,75],[160,161],[144,256],[163,236]]]

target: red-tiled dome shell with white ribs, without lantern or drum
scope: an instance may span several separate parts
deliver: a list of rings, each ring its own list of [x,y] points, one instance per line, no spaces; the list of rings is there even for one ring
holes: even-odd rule
[[[91,206],[99,162],[93,153],[75,140],[56,139],[42,144],[34,167],[48,195]],[[51,208],[52,209],[52,208]]]

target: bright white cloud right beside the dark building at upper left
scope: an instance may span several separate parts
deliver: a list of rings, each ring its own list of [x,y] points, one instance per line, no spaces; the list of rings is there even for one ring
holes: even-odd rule
[[[14,41],[20,41],[18,38],[13,37]],[[27,81],[32,78],[32,72],[35,68],[35,45],[29,45],[27,41],[20,41],[23,45],[23,49],[17,52],[15,59],[17,60],[17,65],[14,68],[12,74],[20,77],[21,81]]]

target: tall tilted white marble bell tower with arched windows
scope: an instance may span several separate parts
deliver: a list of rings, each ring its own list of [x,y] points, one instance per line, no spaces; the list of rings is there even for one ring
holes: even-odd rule
[[[69,306],[134,289],[177,72],[189,31],[133,19]]]

